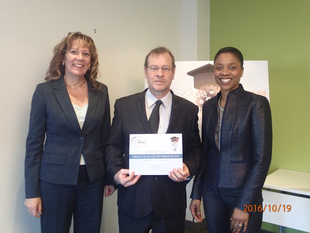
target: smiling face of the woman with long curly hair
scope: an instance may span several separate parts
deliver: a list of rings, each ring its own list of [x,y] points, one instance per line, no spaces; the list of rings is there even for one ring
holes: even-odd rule
[[[91,66],[89,48],[74,40],[72,47],[67,50],[62,62],[65,64],[65,75],[67,77],[83,78],[88,67]]]

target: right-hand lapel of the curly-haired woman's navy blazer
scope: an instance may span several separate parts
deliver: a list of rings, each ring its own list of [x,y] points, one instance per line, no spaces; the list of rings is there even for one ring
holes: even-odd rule
[[[91,124],[91,121],[94,118],[97,109],[98,94],[99,94],[99,91],[94,90],[92,88],[92,85],[88,81],[87,85],[88,85],[88,108],[86,112],[85,121],[82,127],[82,131],[85,131],[88,128],[88,126]]]

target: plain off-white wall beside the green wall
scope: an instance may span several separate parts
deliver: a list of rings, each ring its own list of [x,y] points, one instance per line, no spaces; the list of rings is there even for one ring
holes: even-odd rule
[[[199,25],[205,24],[208,29],[209,0],[1,2],[2,232],[40,232],[39,219],[31,217],[24,207],[25,140],[32,94],[35,86],[44,81],[55,44],[74,31],[94,39],[100,57],[100,81],[108,85],[113,117],[116,98],[143,90],[143,63],[151,49],[166,46],[177,61],[197,59],[199,44],[193,43],[191,37],[185,39],[183,34],[195,24],[197,28],[197,20],[191,24],[182,20],[185,17],[183,4],[190,6],[190,2],[194,6],[207,2],[203,4],[207,8],[206,15],[200,15]],[[197,7],[191,9],[191,14],[197,17]],[[193,34],[195,36],[195,31]],[[185,41],[196,55],[191,50],[184,51]],[[209,48],[208,34],[201,44],[203,51],[205,47]],[[208,55],[201,60],[208,60]],[[115,193],[104,200],[101,232],[118,232],[116,199]]]

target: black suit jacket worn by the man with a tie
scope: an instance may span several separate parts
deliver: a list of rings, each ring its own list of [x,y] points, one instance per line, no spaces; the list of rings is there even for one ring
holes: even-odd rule
[[[147,89],[146,89],[147,90]],[[145,112],[145,91],[117,99],[106,146],[106,162],[110,178],[122,168],[129,168],[129,135],[150,134]],[[198,107],[172,93],[172,107],[166,133],[182,133],[183,162],[191,177],[195,175],[201,157],[198,130]],[[186,208],[186,184],[168,176],[141,176],[135,185],[118,185],[118,208],[134,217],[154,211],[157,217],[173,217]]]

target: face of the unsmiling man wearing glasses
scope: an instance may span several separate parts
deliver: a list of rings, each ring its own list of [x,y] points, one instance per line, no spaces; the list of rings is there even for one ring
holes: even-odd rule
[[[148,57],[148,66],[172,68],[172,58],[169,53],[151,54]],[[144,66],[144,76],[148,80],[148,89],[157,99],[161,99],[170,91],[170,85],[174,79],[174,75],[175,69],[170,70],[168,73],[159,69],[153,73],[148,67]]]

